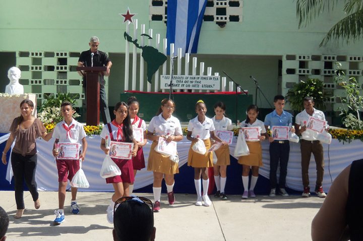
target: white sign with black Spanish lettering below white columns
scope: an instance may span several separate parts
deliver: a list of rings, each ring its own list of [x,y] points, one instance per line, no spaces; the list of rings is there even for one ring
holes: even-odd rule
[[[174,89],[191,89],[191,90],[219,90],[220,76],[206,75],[174,75]],[[160,76],[160,89],[170,88],[170,76]]]

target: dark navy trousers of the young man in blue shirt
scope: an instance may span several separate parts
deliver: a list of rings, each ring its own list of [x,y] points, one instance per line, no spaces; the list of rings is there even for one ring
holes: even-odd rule
[[[288,141],[284,143],[270,143],[270,188],[276,188],[277,177],[276,171],[280,162],[280,178],[279,188],[286,186],[287,162],[290,154],[290,144]]]

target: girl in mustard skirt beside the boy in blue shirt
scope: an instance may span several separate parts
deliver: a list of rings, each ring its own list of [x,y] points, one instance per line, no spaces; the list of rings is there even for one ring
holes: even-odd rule
[[[266,129],[265,125],[262,121],[257,119],[257,115],[259,113],[259,109],[257,105],[250,105],[247,108],[247,118],[245,121],[240,123],[240,127],[258,127],[260,130],[259,140],[246,140],[247,146],[250,150],[250,155],[248,156],[240,156],[238,158],[238,163],[243,166],[242,170],[242,182],[244,185],[244,193],[242,195],[242,199],[247,199],[249,196],[251,198],[255,198],[256,195],[254,193],[254,189],[258,179],[258,171],[259,167],[263,166],[262,163],[262,147],[261,141],[266,138]],[[252,167],[252,176],[251,176],[251,186],[250,191],[248,191],[249,184],[249,174],[250,169]]]

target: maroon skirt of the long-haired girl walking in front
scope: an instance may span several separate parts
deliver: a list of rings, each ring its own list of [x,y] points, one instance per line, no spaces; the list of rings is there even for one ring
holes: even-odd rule
[[[121,170],[121,175],[106,178],[106,183],[133,183],[135,181],[132,160],[112,158]]]

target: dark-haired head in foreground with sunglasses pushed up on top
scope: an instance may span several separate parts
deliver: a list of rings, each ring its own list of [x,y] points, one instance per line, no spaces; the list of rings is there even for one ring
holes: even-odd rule
[[[114,241],[153,241],[155,239],[152,202],[144,197],[123,197],[115,202]]]

